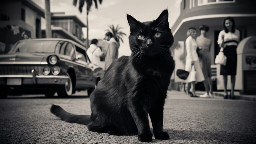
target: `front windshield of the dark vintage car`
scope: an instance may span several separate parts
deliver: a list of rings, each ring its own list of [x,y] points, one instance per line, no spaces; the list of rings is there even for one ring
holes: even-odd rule
[[[31,40],[19,42],[9,53],[55,53],[61,40]]]

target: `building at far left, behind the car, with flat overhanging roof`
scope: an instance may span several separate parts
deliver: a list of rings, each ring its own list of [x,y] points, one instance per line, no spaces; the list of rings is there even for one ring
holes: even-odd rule
[[[0,2],[0,53],[7,53],[21,39],[41,38],[44,10],[31,0]]]

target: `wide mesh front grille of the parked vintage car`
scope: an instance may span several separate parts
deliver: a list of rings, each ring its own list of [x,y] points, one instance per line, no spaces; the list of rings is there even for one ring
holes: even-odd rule
[[[36,70],[38,75],[43,75],[43,67],[38,65],[0,65],[0,75],[32,75],[32,69]]]

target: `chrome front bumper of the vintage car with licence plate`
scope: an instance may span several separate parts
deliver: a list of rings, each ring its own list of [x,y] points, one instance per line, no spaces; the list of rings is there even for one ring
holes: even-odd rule
[[[18,82],[8,83],[8,79],[12,81],[18,80]],[[68,79],[69,77],[65,75],[0,75],[0,85],[64,85]]]

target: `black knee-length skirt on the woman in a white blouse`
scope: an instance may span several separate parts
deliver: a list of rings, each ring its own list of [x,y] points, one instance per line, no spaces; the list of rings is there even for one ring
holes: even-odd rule
[[[223,53],[227,63],[226,66],[220,65],[220,75],[237,75],[237,46],[226,46]]]

